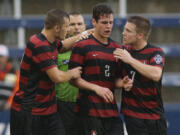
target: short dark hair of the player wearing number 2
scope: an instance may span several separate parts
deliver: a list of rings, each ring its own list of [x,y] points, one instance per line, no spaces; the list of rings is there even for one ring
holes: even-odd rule
[[[93,7],[92,18],[94,18],[96,22],[99,20],[100,16],[103,16],[104,14],[113,14],[111,7],[109,7],[107,4],[99,3]]]

